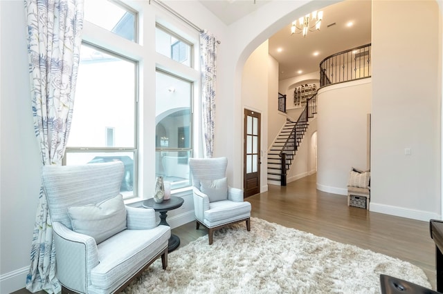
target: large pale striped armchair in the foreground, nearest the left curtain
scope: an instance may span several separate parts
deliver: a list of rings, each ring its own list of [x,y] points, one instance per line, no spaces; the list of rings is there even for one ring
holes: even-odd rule
[[[78,293],[116,293],[161,257],[168,266],[169,226],[150,208],[125,206],[120,161],[44,166],[57,278]]]

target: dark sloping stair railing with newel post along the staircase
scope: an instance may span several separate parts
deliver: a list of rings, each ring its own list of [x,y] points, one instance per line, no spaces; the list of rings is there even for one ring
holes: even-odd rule
[[[314,114],[317,113],[317,93],[306,99],[305,108],[302,110],[296,124],[294,124],[291,133],[288,138],[284,142],[282,150],[280,150],[280,165],[281,165],[281,175],[280,175],[280,185],[286,186],[287,183],[287,169],[289,168],[287,164],[286,153],[287,151],[293,152],[294,156],[297,151],[297,139],[302,139],[303,135],[305,135],[305,130],[303,128],[298,128],[298,126],[302,126],[307,124],[307,121],[310,117],[314,117]],[[293,144],[290,142],[293,141]]]

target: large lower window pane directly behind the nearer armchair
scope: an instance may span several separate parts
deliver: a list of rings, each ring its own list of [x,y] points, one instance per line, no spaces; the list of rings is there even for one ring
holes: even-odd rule
[[[82,44],[66,164],[123,161],[124,197],[136,184],[136,88],[136,61]]]

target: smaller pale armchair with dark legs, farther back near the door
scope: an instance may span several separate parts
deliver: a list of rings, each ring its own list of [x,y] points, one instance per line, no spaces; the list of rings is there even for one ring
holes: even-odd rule
[[[243,201],[243,190],[227,184],[228,159],[190,158],[189,166],[197,230],[200,224],[208,228],[209,244],[213,244],[214,231],[228,224],[245,221],[251,231],[251,204]]]

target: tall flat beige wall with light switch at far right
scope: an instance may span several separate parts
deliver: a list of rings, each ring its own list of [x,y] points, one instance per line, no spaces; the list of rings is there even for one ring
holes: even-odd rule
[[[372,2],[373,211],[440,218],[439,17],[435,1]]]

